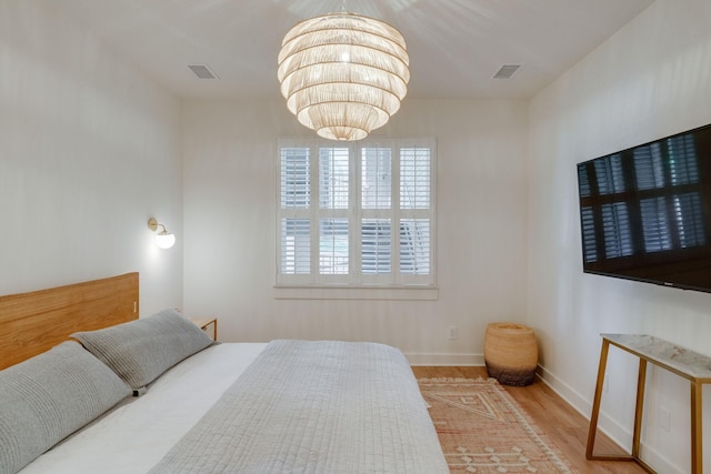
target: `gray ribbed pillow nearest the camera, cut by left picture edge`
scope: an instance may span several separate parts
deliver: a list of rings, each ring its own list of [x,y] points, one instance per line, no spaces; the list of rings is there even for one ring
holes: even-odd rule
[[[0,371],[0,473],[20,471],[130,394],[71,341]]]

